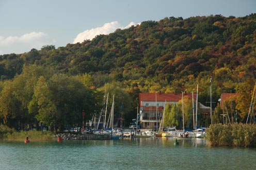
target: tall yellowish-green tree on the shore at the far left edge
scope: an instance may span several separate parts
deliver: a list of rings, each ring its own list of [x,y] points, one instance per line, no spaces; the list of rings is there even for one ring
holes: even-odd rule
[[[3,106],[3,114],[5,115],[4,122],[7,123],[8,119],[12,122],[17,122],[11,126],[16,126],[18,128],[19,124],[23,129],[24,124],[32,125],[34,124],[35,114],[29,114],[28,107],[30,100],[34,94],[34,87],[37,83],[39,76],[45,73],[41,66],[30,65],[23,67],[23,72],[20,75],[14,77],[12,81],[7,81],[4,85],[4,90],[2,91],[2,97],[6,101],[11,101],[9,104],[5,103]],[[8,96],[5,96],[8,94]],[[8,99],[6,97],[9,97]],[[15,106],[12,106],[14,105]],[[5,108],[5,109],[4,109]],[[15,108],[15,111],[11,111]],[[9,116],[8,116],[9,115]],[[31,127],[31,126],[30,126]]]

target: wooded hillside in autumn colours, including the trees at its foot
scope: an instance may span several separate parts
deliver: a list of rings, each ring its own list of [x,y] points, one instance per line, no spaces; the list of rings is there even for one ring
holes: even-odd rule
[[[117,97],[116,115],[124,101],[129,124],[139,92],[195,93],[199,84],[205,104],[210,78],[214,101],[223,92],[241,94],[236,109],[243,122],[256,78],[256,14],[144,21],[83,43],[2,55],[0,75],[0,121],[10,126],[35,118],[77,124],[82,110],[89,120],[100,113],[105,91]]]

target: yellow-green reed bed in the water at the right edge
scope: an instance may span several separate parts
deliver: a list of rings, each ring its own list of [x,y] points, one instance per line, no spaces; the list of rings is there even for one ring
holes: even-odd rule
[[[212,146],[256,147],[255,124],[213,124],[206,134]]]

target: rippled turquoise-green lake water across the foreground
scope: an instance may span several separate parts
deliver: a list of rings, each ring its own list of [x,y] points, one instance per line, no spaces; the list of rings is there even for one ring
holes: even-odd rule
[[[211,147],[204,139],[0,141],[0,169],[255,169],[255,148]]]

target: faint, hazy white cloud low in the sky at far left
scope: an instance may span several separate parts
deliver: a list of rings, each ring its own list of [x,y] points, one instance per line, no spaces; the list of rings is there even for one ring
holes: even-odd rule
[[[44,32],[30,32],[24,35],[3,37],[0,36],[0,55],[29,52],[32,48],[41,49],[43,45],[51,44]]]

